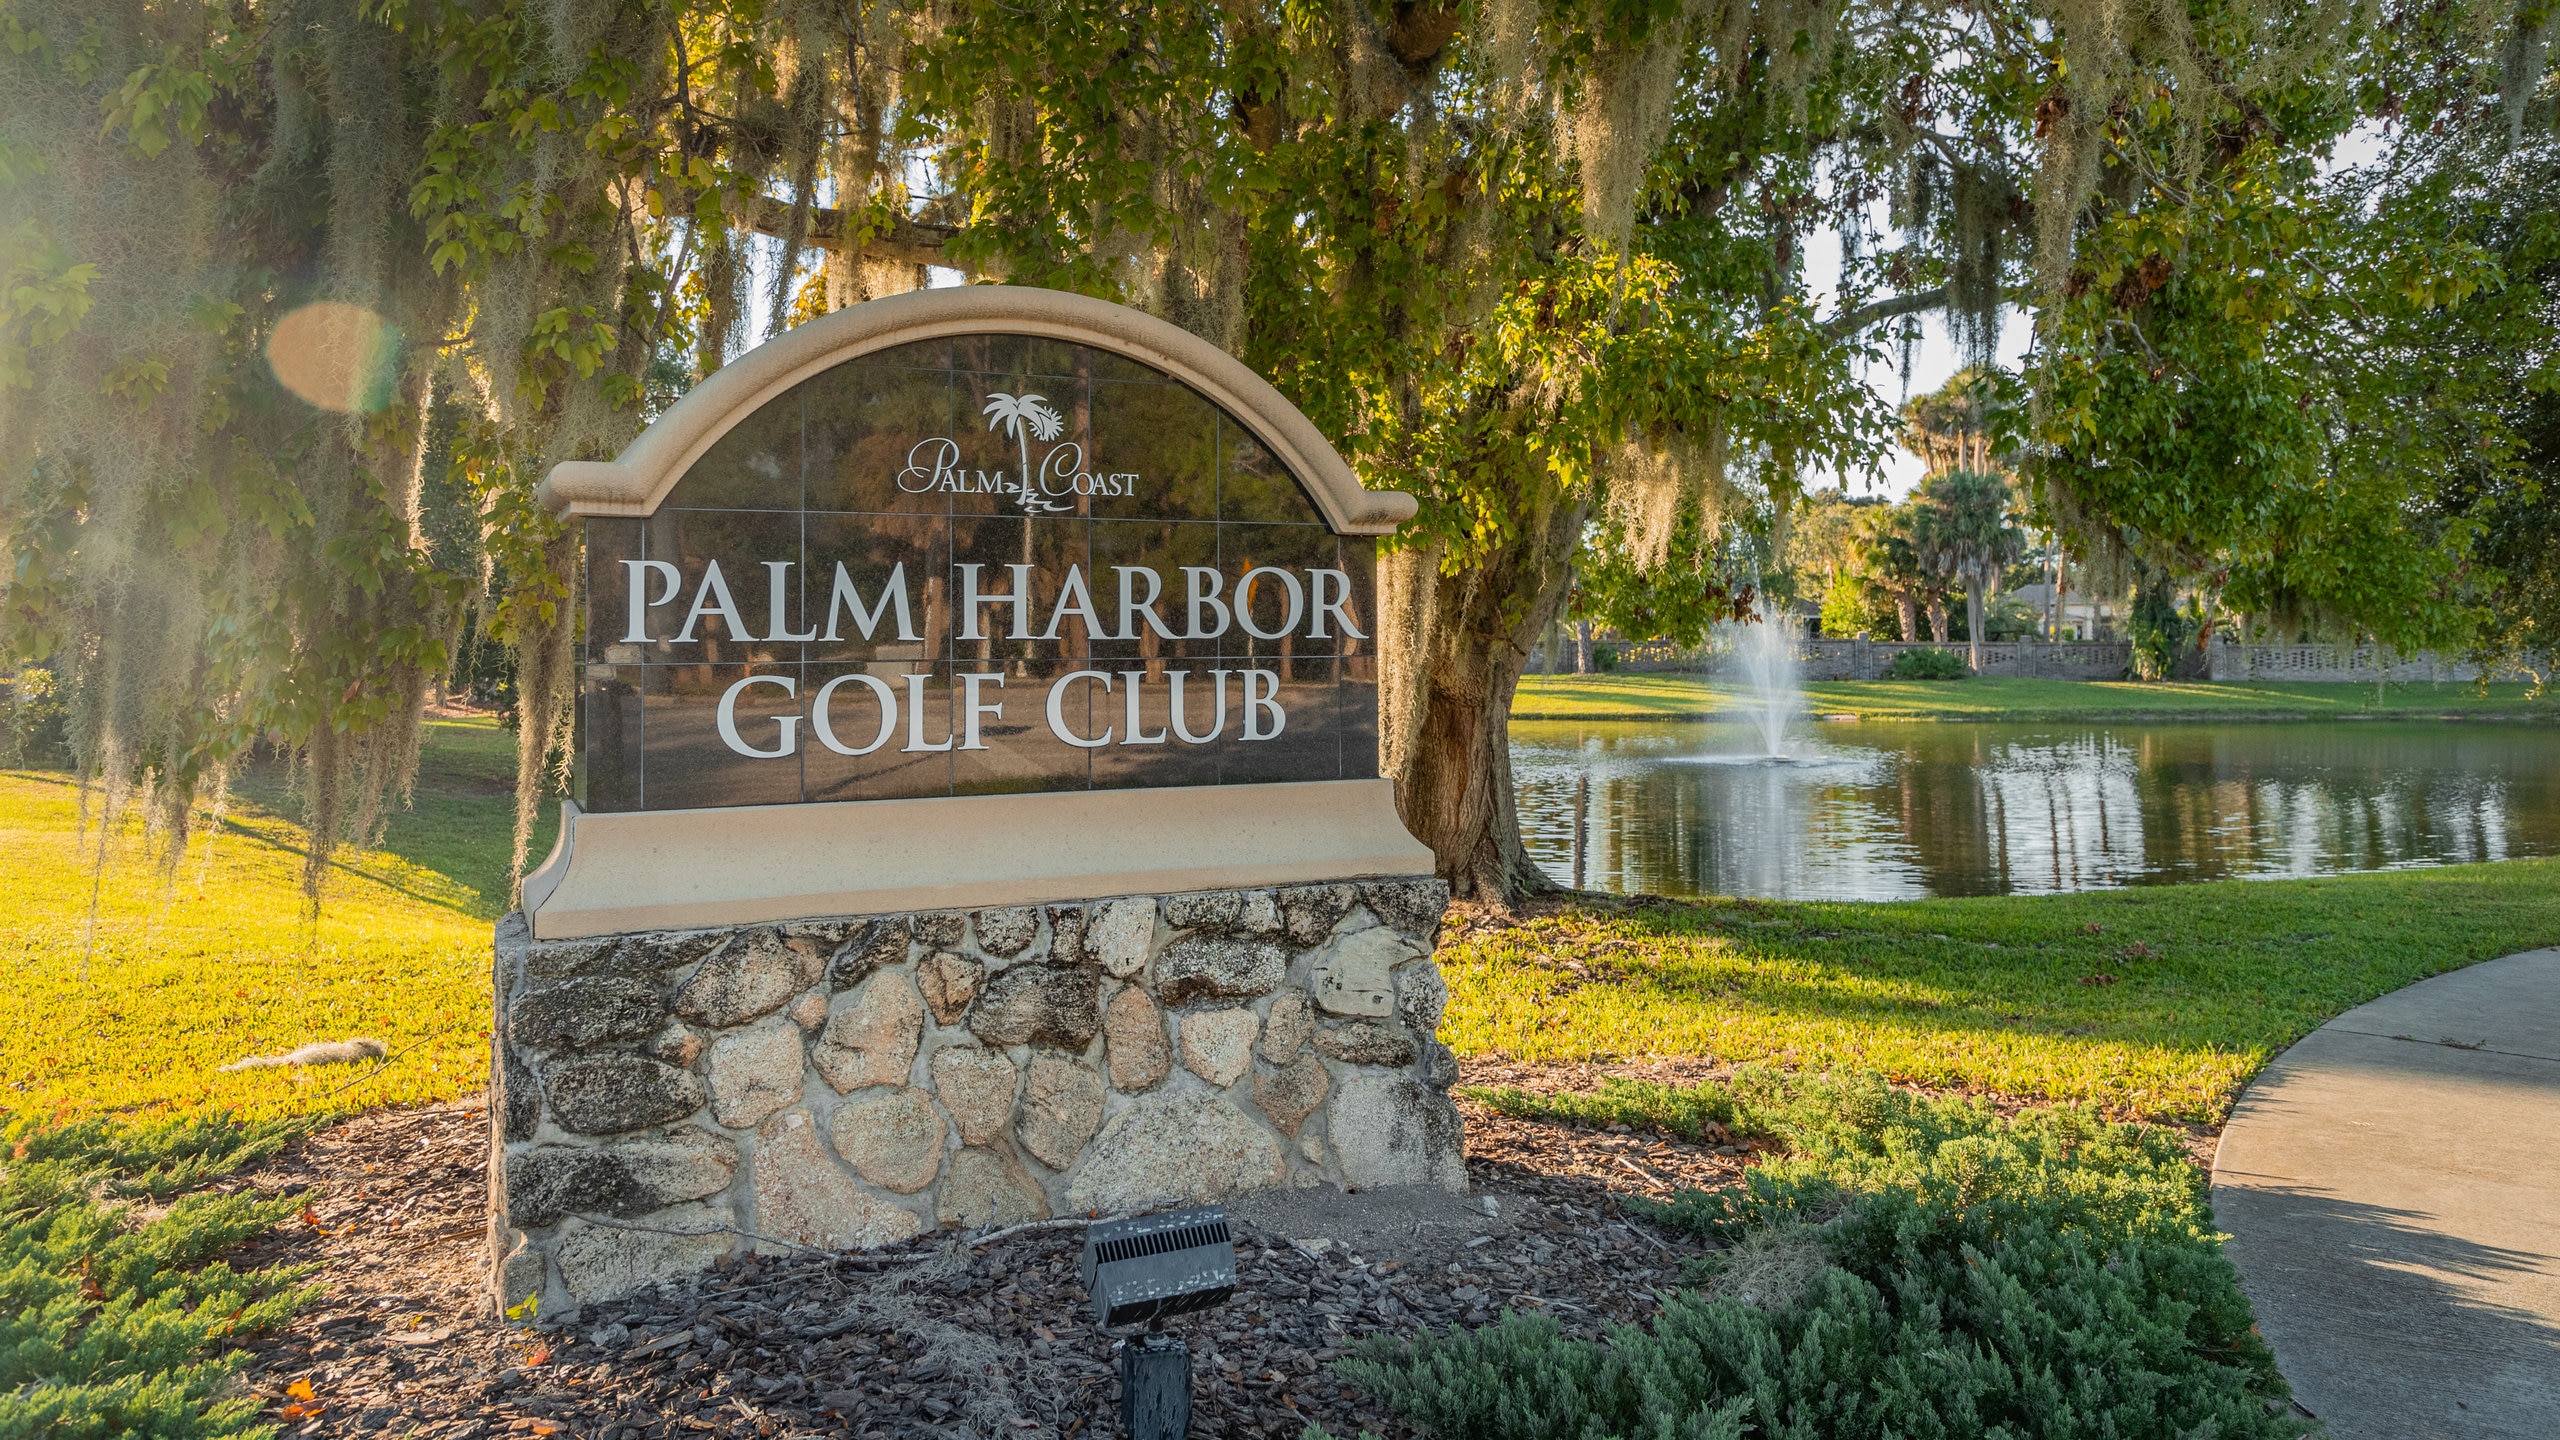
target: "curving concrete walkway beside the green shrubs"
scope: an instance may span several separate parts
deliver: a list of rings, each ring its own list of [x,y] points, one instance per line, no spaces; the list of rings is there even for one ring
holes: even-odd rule
[[[2222,1130],[2214,1220],[2337,1440],[2560,1437],[2560,951],[2278,1056]]]

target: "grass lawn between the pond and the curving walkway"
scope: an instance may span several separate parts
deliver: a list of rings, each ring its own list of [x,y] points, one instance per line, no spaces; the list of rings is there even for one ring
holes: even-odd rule
[[[1441,945],[1459,1056],[1705,1056],[2220,1122],[2409,981],[2560,943],[2560,861],[2063,897],[1613,902]]]

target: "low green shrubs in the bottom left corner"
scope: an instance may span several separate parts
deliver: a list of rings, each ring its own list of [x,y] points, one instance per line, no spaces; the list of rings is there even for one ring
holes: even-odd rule
[[[233,1391],[233,1338],[282,1325],[307,1268],[215,1256],[294,1199],[177,1194],[264,1158],[292,1125],[174,1120],[0,1133],[0,1435],[169,1440],[271,1435]],[[108,1197],[169,1197],[136,1215]]]

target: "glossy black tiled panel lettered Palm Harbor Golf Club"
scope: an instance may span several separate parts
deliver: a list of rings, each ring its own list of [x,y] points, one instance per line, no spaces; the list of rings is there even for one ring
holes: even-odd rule
[[[899,346],[586,520],[579,799],[1377,774],[1375,541],[1108,351]]]

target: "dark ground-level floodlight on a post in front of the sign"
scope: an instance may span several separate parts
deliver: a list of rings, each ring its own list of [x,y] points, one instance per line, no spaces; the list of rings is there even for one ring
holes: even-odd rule
[[[1147,1325],[1121,1345],[1121,1425],[1132,1440],[1190,1430],[1190,1348],[1165,1320],[1236,1294],[1236,1243],[1226,1209],[1175,1209],[1085,1227],[1085,1294],[1101,1327]]]

